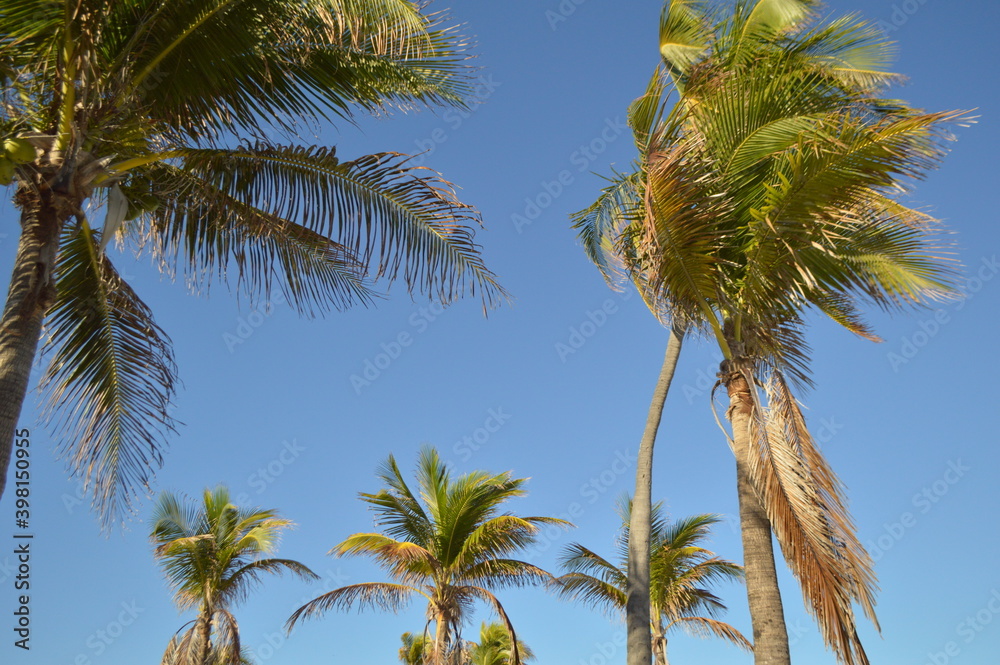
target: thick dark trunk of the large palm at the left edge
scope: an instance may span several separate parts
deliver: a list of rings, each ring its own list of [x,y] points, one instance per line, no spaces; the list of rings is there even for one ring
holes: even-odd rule
[[[45,189],[22,186],[16,202],[21,209],[21,236],[0,316],[0,497],[7,485],[14,432],[28,393],[42,319],[55,297],[53,272],[65,218]]]

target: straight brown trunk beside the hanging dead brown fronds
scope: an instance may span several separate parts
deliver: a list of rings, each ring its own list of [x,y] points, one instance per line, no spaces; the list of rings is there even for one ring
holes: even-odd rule
[[[723,363],[723,381],[729,393],[726,417],[733,428],[733,451],[736,454],[736,487],[740,501],[740,531],[743,536],[743,568],[746,573],[750,623],[753,626],[755,665],[791,665],[788,630],[781,606],[778,573],[774,565],[771,522],[760,496],[750,482],[750,454],[753,445],[754,396],[746,378],[727,371]]]

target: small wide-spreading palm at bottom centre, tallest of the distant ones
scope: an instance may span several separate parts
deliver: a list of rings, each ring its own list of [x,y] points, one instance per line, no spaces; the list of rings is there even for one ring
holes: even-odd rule
[[[288,629],[300,620],[336,609],[403,608],[414,596],[427,600],[427,622],[435,624],[431,662],[443,665],[445,654],[461,646],[461,623],[476,601],[496,612],[514,644],[511,663],[519,665],[514,626],[493,590],[551,579],[541,568],[510,558],[531,545],[540,526],[568,525],[552,517],[519,517],[500,512],[523,496],[523,478],[510,472],[473,471],[452,480],[433,448],[424,448],[417,464],[418,495],[403,479],[392,455],[379,467],[386,487],[361,494],[375,511],[383,533],[356,533],[330,550],[336,556],[368,556],[386,569],[393,582],[367,582],[334,589],[297,609]]]

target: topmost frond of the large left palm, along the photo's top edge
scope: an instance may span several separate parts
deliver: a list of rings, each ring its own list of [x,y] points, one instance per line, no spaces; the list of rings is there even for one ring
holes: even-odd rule
[[[142,28],[108,54],[131,69],[121,98],[189,136],[349,117],[354,106],[462,103],[471,89],[467,42],[446,14],[413,3],[211,0],[199,10],[131,3],[118,22]]]

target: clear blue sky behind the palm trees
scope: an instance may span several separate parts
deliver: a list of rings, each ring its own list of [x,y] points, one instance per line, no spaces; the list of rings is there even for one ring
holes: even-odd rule
[[[393,663],[400,633],[423,626],[423,607],[415,604],[400,615],[330,613],[290,638],[281,630],[295,607],[321,591],[384,579],[365,560],[325,553],[347,535],[371,529],[371,515],[356,496],[378,488],[374,469],[390,452],[410,469],[419,447],[430,443],[456,471],[512,469],[530,477],[529,495],[512,506],[524,514],[562,516],[576,504],[577,528],[547,534],[528,555],[550,569],[560,547],[574,540],[611,553],[615,497],[633,483],[632,460],[666,334],[637,297],[608,290],[584,258],[567,215],[601,187],[592,172],[624,167],[633,156],[624,110],[657,63],[660,3],[451,0],[435,6],[452,7],[476,36],[484,103],[466,116],[422,112],[325,128],[320,140],[337,144],[345,157],[433,146],[426,163],[483,211],[487,229],[477,237],[514,294],[513,306],[484,319],[475,302],[441,312],[393,288],[376,309],[306,321],[280,304],[267,315],[255,313],[221,287],[198,298],[161,279],[148,260],[117,259],[171,335],[184,381],[175,415],[185,425],[157,489],[197,495],[226,483],[250,503],[280,510],[298,523],[280,554],[326,577],[312,585],[269,580],[237,610],[243,640],[262,664]],[[943,167],[912,196],[957,232],[968,297],[937,313],[875,316],[886,340],[880,345],[824,322],[810,331],[817,388],[802,397],[848,487],[862,540],[877,558],[883,630],[879,636],[862,623],[862,636],[872,662],[996,663],[998,367],[984,344],[1000,323],[993,207],[1000,191],[1000,6],[836,0],[829,11],[863,11],[891,28],[900,46],[896,69],[910,77],[899,96],[935,110],[977,108],[982,116],[959,130]],[[516,224],[513,216],[526,215],[532,202],[539,206],[530,211],[535,219]],[[0,274],[6,275],[16,218],[9,202],[0,210],[7,227]],[[242,331],[252,334],[227,345],[226,335],[238,335],[240,321],[255,324]],[[572,338],[574,331],[588,336]],[[382,345],[400,333],[411,343],[387,364],[378,357]],[[571,342],[579,348],[560,354],[559,345],[572,348]],[[352,383],[352,375],[364,378],[367,361],[384,369],[370,385]],[[705,389],[716,363],[708,343],[684,350],[658,442],[654,496],[672,515],[725,515],[728,523],[711,547],[739,560],[734,465]],[[36,424],[33,402],[22,416],[33,437],[32,650],[12,646],[14,580],[3,567],[13,562],[8,492],[0,503],[0,660],[158,662],[189,617],[178,615],[154,565],[143,522],[151,504],[127,531],[103,538]],[[502,425],[487,422],[497,415]],[[487,424],[496,431],[487,434]],[[464,437],[476,447],[462,443]],[[787,574],[782,583],[795,661],[834,663],[796,583]],[[743,589],[720,593],[730,606],[728,620],[749,632]],[[538,589],[504,592],[501,599],[539,663],[624,662],[620,622]],[[468,637],[486,617],[481,609]],[[670,655],[678,665],[751,662],[732,647],[684,635],[671,639]]]

